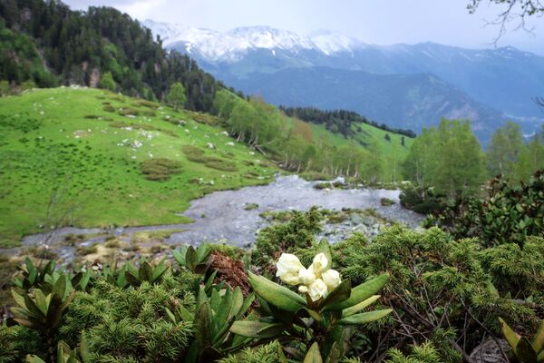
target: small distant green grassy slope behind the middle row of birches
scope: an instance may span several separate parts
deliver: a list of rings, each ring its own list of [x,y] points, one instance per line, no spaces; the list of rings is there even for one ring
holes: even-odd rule
[[[385,132],[372,125],[361,123],[361,132],[357,131],[357,125],[353,126],[355,136],[353,139],[346,139],[344,135],[332,133],[325,129],[325,126],[312,123],[314,138],[325,136],[330,142],[336,146],[342,146],[346,143],[352,143],[359,147],[364,147],[364,144],[376,144],[384,159],[385,181],[398,181],[401,179],[400,163],[410,150],[413,139],[404,137],[404,146],[401,144],[402,135],[393,132]],[[385,140],[385,133],[391,137],[391,142]],[[361,144],[361,142],[363,144]]]

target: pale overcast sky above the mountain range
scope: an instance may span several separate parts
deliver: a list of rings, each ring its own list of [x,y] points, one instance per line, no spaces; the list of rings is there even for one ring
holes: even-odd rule
[[[471,48],[491,47],[497,25],[485,26],[500,12],[469,0],[65,0],[73,9],[110,5],[140,20],[177,23],[225,31],[238,26],[269,25],[298,34],[331,30],[368,44],[435,42]],[[512,45],[544,55],[544,17],[530,19],[533,32],[510,23],[498,46]]]

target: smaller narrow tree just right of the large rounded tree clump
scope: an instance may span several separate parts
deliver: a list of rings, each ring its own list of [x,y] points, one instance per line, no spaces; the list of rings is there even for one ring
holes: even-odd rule
[[[487,152],[488,168],[491,175],[504,175],[507,179],[518,177],[516,164],[523,148],[520,125],[508,122],[493,133]]]

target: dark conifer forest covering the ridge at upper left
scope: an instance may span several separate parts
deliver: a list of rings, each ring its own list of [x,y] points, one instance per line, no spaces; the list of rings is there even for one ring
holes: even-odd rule
[[[34,38],[35,49],[26,35]],[[151,30],[109,7],[75,12],[56,1],[4,0],[0,36],[3,42],[9,38],[12,48],[0,47],[0,79],[13,84],[95,87],[102,74],[111,73],[117,91],[161,100],[170,84],[181,82],[187,90],[186,107],[204,112],[222,87],[189,56],[163,50]],[[36,64],[38,51],[42,64]],[[25,54],[30,57],[21,56]]]

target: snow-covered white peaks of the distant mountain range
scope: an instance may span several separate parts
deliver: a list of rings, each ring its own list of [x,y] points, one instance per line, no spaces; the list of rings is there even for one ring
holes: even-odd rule
[[[344,34],[319,32],[302,36],[269,26],[244,26],[228,32],[191,28],[186,25],[157,23],[146,20],[143,25],[169,48],[184,48],[188,54],[197,53],[207,62],[237,62],[248,50],[266,49],[276,55],[277,50],[293,54],[301,50],[317,51],[330,55],[353,52],[364,44]]]

